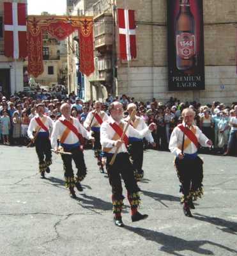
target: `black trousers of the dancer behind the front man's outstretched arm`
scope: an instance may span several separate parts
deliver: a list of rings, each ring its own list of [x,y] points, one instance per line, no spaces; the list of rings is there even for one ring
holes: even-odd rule
[[[129,147],[132,158],[132,166],[138,172],[142,172],[143,163],[143,141],[132,141]]]

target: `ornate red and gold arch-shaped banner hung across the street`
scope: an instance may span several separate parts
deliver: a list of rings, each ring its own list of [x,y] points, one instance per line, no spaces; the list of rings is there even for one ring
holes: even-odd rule
[[[74,31],[79,33],[80,72],[89,76],[95,70],[93,18],[69,16],[27,16],[28,72],[34,77],[43,73],[43,32],[57,40],[65,40]]]

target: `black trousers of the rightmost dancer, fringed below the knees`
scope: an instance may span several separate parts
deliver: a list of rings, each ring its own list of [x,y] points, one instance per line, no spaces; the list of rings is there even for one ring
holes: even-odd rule
[[[175,165],[184,200],[201,198],[203,195],[203,160],[198,156],[194,159],[185,157],[182,160],[176,157]]]

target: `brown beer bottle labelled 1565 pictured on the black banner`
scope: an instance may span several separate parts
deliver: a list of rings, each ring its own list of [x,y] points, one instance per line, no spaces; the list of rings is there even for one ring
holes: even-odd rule
[[[195,21],[190,10],[190,0],[180,0],[176,19],[176,66],[190,70],[195,65]]]

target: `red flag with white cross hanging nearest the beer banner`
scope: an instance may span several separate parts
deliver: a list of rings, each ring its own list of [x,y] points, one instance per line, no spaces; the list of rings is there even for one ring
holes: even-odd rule
[[[137,57],[135,11],[118,9],[119,49],[121,60]]]

